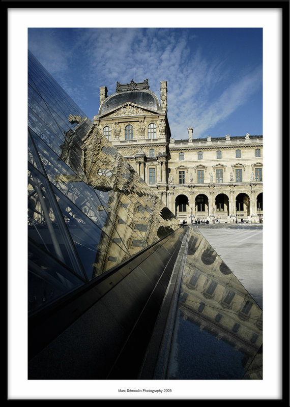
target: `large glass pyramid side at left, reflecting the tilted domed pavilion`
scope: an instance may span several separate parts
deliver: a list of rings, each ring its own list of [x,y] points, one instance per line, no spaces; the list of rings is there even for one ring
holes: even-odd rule
[[[179,222],[31,52],[27,122],[28,302],[34,313]],[[133,127],[127,130],[132,137]]]

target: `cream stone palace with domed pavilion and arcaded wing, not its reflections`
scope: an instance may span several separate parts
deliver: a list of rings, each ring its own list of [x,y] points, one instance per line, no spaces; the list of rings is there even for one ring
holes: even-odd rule
[[[263,222],[263,136],[171,136],[167,81],[100,87],[98,127],[180,221]]]

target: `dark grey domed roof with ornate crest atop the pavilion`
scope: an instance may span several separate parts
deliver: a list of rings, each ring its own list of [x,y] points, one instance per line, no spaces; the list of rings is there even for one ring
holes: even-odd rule
[[[142,86],[141,86],[142,85]],[[132,81],[131,84],[121,85],[117,82],[116,93],[113,95],[108,96],[99,108],[99,114],[106,113],[118,106],[124,105],[125,103],[133,103],[138,106],[150,108],[153,110],[160,110],[160,104],[158,101],[157,96],[149,91],[149,86],[147,85],[147,89],[140,89],[144,88],[144,83],[135,83]],[[135,88],[134,90],[131,90]]]

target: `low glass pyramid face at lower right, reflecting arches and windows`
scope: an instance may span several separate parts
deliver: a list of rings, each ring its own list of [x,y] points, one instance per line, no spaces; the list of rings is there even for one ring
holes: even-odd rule
[[[262,317],[198,229],[189,229],[166,379],[263,379]]]

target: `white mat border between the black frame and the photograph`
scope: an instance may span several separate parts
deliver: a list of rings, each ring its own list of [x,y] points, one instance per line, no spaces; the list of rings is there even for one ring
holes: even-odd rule
[[[122,15],[123,14],[123,15]],[[130,14],[130,15],[128,15]],[[120,387],[161,388],[164,382],[27,381],[26,342],[26,123],[28,27],[263,27],[264,33],[264,379],[263,381],[166,381],[172,393],[154,399],[280,399],[280,225],[269,219],[271,196],[281,195],[273,168],[280,163],[281,9],[8,9],[8,399],[143,399]],[[271,118],[271,121],[270,121]],[[271,140],[271,142],[270,142]],[[274,141],[275,142],[272,142]],[[267,166],[271,162],[273,165]],[[276,164],[276,165],[274,165]],[[23,170],[23,168],[25,170]],[[277,170],[277,172],[281,173]],[[17,214],[17,215],[16,215]],[[273,221],[273,222],[272,222]],[[22,225],[23,223],[23,225]],[[24,227],[23,236],[19,234]],[[267,266],[268,265],[268,266]],[[271,267],[270,267],[271,266]],[[269,278],[268,273],[271,278]],[[161,387],[160,387],[161,386]]]

